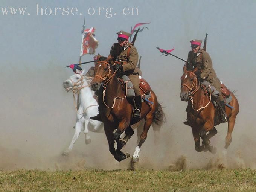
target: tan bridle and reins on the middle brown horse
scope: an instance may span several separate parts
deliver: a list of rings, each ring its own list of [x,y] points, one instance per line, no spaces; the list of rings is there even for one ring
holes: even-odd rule
[[[114,76],[116,75],[117,70],[115,70],[114,73],[113,73],[113,75],[111,75],[111,76],[109,77],[109,75],[110,75],[111,72],[112,72],[111,69],[110,69],[110,64],[109,64],[108,62],[106,62],[106,61],[98,61],[97,64],[98,64],[98,63],[105,63],[105,64],[107,64],[107,66],[108,66],[108,74],[107,74],[105,77],[102,77],[102,76],[99,76],[99,75],[95,75],[95,76],[98,77],[98,78],[100,78],[100,79],[102,79],[102,82],[101,82],[101,85],[102,85],[102,87],[103,87],[103,91],[102,91],[103,97],[102,97],[102,100],[103,100],[104,105],[105,105],[107,108],[109,108],[109,109],[113,109],[114,106],[115,106],[115,104],[116,104],[116,99],[125,99],[125,98],[126,98],[126,96],[127,96],[127,81],[125,81],[125,97],[122,98],[122,97],[116,96],[116,97],[114,98],[114,102],[113,102],[112,107],[108,107],[108,105],[107,105],[107,104],[105,103],[105,101],[104,101],[105,94],[106,94],[106,89],[107,89],[108,83],[109,83],[109,82],[114,78]]]

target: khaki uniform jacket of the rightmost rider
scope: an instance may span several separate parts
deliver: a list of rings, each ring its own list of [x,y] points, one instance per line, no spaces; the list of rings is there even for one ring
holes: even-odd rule
[[[190,51],[187,61],[192,63],[194,67],[198,66],[199,69],[203,70],[200,74],[202,79],[210,81],[211,79],[217,77],[215,70],[212,68],[212,59],[206,51],[201,49],[198,51],[198,53],[193,53],[193,51]]]

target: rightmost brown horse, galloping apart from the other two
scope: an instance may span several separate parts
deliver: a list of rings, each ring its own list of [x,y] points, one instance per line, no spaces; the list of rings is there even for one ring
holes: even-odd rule
[[[220,123],[219,120],[216,121],[215,112],[217,108],[210,101],[212,98],[208,95],[203,87],[201,87],[200,82],[197,80],[194,69],[192,72],[187,71],[186,68],[183,69],[184,73],[181,76],[181,101],[188,101],[187,107],[187,120],[189,126],[192,128],[193,137],[195,140],[195,150],[198,152],[201,151],[210,151],[213,154],[216,152],[214,146],[210,146],[210,138],[217,134],[215,125]],[[226,136],[226,145],[224,152],[229,147],[232,137],[232,131],[235,125],[236,115],[239,112],[239,105],[236,97],[233,93],[230,93],[232,96],[232,101],[230,106],[226,106],[226,114],[228,121],[228,130]],[[215,121],[214,121],[215,117]],[[206,133],[209,133],[206,135]],[[202,146],[200,146],[200,137],[202,138]]]

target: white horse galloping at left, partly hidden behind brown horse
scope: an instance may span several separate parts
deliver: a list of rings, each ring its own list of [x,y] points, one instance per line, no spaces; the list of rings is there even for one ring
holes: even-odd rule
[[[91,137],[88,134],[88,130],[96,133],[104,132],[104,125],[102,122],[97,120],[91,120],[90,117],[96,116],[98,114],[98,103],[94,99],[94,91],[91,90],[90,84],[87,82],[87,78],[84,78],[84,70],[79,74],[74,74],[70,78],[63,82],[63,87],[67,92],[72,91],[74,97],[74,104],[77,110],[76,114],[76,126],[75,134],[69,147],[62,153],[62,155],[68,155],[70,150],[73,148],[79,134],[82,131],[84,123],[84,134],[85,143],[89,144],[91,142]],[[76,98],[79,99],[79,108],[77,109],[76,104],[78,103]],[[90,123],[91,126],[88,126]]]

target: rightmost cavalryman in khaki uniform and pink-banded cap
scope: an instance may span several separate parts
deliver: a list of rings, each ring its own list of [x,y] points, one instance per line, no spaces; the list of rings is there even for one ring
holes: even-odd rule
[[[189,69],[190,67],[198,67],[199,70],[195,73],[195,75],[197,75],[200,82],[208,81],[216,88],[216,90],[219,92],[219,103],[221,104],[221,107],[225,112],[224,98],[221,94],[221,82],[217,78],[215,70],[212,67],[212,60],[210,58],[210,55],[206,51],[201,49],[201,40],[193,39],[190,41],[190,43],[192,50],[188,53],[186,63],[187,69]],[[224,113],[222,113],[221,115],[221,122],[227,122]]]

